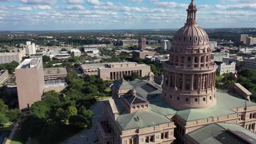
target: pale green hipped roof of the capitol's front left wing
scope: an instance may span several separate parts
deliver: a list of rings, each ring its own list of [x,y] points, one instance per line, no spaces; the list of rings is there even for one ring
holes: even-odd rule
[[[139,110],[133,113],[120,115],[117,122],[121,129],[137,129],[153,127],[154,125],[172,123],[167,117],[150,110]]]

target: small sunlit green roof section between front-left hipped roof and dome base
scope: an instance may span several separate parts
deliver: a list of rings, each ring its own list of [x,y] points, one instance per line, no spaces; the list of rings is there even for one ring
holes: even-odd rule
[[[149,110],[157,112],[164,116],[174,115],[176,110],[167,105],[164,101],[153,101],[149,104]]]

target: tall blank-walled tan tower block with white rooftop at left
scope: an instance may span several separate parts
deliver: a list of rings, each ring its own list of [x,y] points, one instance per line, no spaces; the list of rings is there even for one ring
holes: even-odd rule
[[[25,59],[16,69],[19,109],[29,108],[41,100],[44,90],[42,58]]]

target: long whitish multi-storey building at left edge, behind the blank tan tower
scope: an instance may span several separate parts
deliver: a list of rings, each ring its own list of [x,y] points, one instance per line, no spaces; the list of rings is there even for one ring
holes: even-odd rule
[[[23,50],[21,50],[23,51]],[[22,52],[1,52],[0,53],[0,64],[11,63],[13,61],[21,63]]]

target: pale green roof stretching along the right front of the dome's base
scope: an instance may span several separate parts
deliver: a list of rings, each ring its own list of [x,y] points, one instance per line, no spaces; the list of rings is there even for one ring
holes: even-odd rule
[[[219,117],[225,115],[231,115],[236,113],[231,109],[235,109],[237,107],[246,107],[246,106],[254,106],[255,103],[236,98],[234,93],[220,93],[216,92],[217,105],[209,108],[209,109],[188,109],[178,111],[176,113],[177,116],[184,119],[184,121],[196,121],[199,119],[211,118],[211,117]]]

